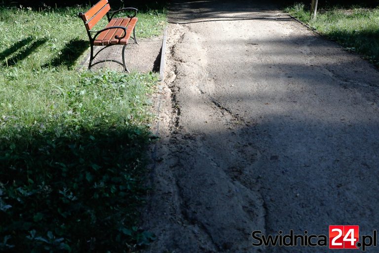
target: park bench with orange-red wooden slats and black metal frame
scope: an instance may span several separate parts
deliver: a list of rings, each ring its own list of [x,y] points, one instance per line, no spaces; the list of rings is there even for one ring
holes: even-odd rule
[[[108,0],[100,0],[93,7],[91,7],[84,14],[80,12],[78,16],[83,20],[85,29],[87,30],[89,42],[91,44],[91,56],[89,59],[88,69],[93,65],[101,62],[112,61],[124,67],[124,70],[129,72],[125,63],[125,47],[129,42],[131,33],[133,31],[134,43],[138,44],[136,39],[135,26],[138,18],[136,8],[122,8],[116,11],[110,11],[111,7]],[[126,18],[114,18],[114,15],[120,11],[133,11],[133,15],[127,15]],[[108,18],[108,25],[99,31],[92,31],[91,29],[101,20],[105,15]],[[95,55],[93,51],[94,46],[104,46]],[[92,64],[95,57],[105,48],[111,45],[124,45],[122,47],[122,63],[117,60],[102,60]]]

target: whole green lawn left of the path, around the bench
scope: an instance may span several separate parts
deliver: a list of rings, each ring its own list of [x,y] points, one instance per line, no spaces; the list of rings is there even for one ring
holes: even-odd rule
[[[155,74],[78,71],[83,7],[0,7],[0,252],[130,252]],[[138,14],[137,37],[165,11]]]

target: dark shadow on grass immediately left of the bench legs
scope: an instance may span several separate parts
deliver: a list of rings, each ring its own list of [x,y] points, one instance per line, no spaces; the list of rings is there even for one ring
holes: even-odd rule
[[[89,42],[84,40],[71,40],[60,50],[57,56],[42,67],[67,66],[72,68],[76,60],[88,49]]]

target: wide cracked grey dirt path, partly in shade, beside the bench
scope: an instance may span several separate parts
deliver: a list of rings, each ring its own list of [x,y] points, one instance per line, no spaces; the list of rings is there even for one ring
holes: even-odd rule
[[[145,252],[324,253],[251,233],[379,228],[377,69],[269,2],[173,0],[169,21]]]

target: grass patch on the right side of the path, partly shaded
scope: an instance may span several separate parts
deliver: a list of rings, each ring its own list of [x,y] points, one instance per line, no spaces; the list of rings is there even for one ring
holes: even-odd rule
[[[363,54],[379,66],[379,8],[321,8],[316,19],[310,18],[309,9],[303,3],[296,3],[285,10],[320,34],[348,50]]]

